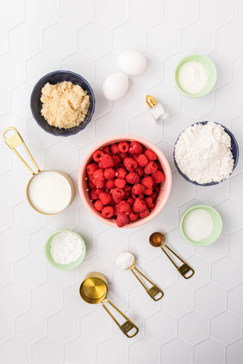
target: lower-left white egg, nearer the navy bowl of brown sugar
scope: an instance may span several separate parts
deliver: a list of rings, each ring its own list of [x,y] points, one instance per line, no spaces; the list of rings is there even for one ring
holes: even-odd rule
[[[113,73],[103,83],[103,94],[108,100],[118,100],[128,90],[128,78],[122,72]]]

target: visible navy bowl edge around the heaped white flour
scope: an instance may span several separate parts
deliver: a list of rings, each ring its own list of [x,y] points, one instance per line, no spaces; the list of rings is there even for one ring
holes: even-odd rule
[[[208,121],[202,121],[202,122],[198,122],[198,123],[195,123],[195,124],[207,124]],[[191,126],[195,125],[195,124],[192,124]],[[219,124],[219,123],[216,123],[216,124]],[[221,125],[221,124],[219,124]],[[235,167],[238,163],[238,159],[239,159],[239,147],[238,147],[238,143],[236,142],[236,139],[234,137],[234,135],[232,134],[232,132],[230,130],[228,130],[225,126],[221,125],[223,128],[224,128],[224,131],[230,135],[230,139],[231,139],[231,153],[232,153],[232,156],[233,156],[233,159],[234,159],[234,166],[233,166],[233,170],[231,172],[231,174],[234,172],[235,170]],[[185,130],[183,130],[181,132],[181,134],[184,132]],[[174,147],[174,152],[173,152],[173,157],[174,157],[174,162],[175,162],[175,166],[177,168],[177,171],[180,173],[180,175],[182,177],[184,177],[188,182],[191,182],[193,183],[193,185],[197,185],[197,186],[214,186],[214,185],[217,185],[218,183],[221,183],[223,181],[225,181],[225,179],[223,179],[223,181],[221,182],[211,182],[211,183],[205,183],[204,185],[201,185],[200,183],[197,183],[195,181],[191,181],[191,179],[189,179],[184,173],[181,172],[181,170],[179,169],[177,163],[176,163],[176,159],[175,159],[175,148],[176,148],[176,143],[178,141],[178,139],[180,138],[181,134],[179,135],[179,137],[177,138],[176,142],[175,142],[175,147]]]

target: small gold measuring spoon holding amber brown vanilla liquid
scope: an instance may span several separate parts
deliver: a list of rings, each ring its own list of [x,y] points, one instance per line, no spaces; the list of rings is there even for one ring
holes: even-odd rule
[[[165,253],[165,255],[169,258],[169,260],[175,265],[176,269],[178,270],[178,272],[185,278],[191,278],[194,274],[194,270],[192,269],[192,267],[187,264],[183,259],[181,259],[175,252],[173,252],[173,250],[171,248],[169,248],[168,245],[165,244],[165,237],[163,234],[161,233],[153,233],[150,235],[149,237],[149,242],[152,246],[154,246],[155,248],[161,248],[163,250],[163,252]],[[166,250],[163,248],[163,246],[166,246],[166,248],[172,253],[174,254],[181,262],[183,262],[183,265],[181,265],[180,267],[178,267],[176,265],[176,263],[171,259],[171,257],[169,256],[169,254],[166,252]],[[192,271],[192,273],[189,276],[185,276],[185,274],[187,274],[188,272]]]

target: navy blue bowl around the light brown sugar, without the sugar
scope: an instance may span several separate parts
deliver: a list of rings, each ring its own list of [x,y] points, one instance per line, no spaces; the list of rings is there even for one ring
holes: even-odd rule
[[[69,129],[59,129],[55,126],[49,125],[44,116],[40,113],[42,109],[42,102],[40,101],[42,87],[44,87],[47,82],[54,85],[63,81],[72,82],[74,85],[81,86],[85,91],[87,91],[87,95],[89,95],[90,98],[90,106],[85,119],[78,126],[74,126]],[[30,108],[36,123],[48,133],[58,137],[68,137],[68,135],[74,135],[83,130],[87,124],[89,124],[92,115],[94,114],[94,106],[94,92],[90,87],[90,84],[82,76],[71,71],[54,71],[48,73],[36,83],[30,98]]]

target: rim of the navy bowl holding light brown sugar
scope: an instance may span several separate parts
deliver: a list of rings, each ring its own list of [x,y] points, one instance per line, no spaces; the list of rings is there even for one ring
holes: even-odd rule
[[[92,108],[92,110],[91,110],[91,114],[90,114],[90,118],[89,118],[89,120],[86,122],[86,124],[81,128],[81,129],[79,129],[79,130],[77,130],[77,131],[75,131],[75,132],[72,132],[72,133],[70,133],[70,134],[68,134],[68,135],[56,135],[56,134],[53,134],[52,132],[50,132],[50,131],[48,131],[48,130],[46,130],[45,128],[43,128],[43,126],[42,125],[40,125],[39,123],[38,123],[38,120],[36,120],[36,117],[35,117],[35,115],[34,115],[34,112],[33,112],[33,108],[32,108],[32,98],[33,98],[33,94],[34,94],[34,91],[35,91],[35,89],[36,89],[36,87],[38,86],[38,84],[39,84],[39,82],[40,81],[42,81],[44,78],[46,78],[47,76],[51,76],[51,75],[54,75],[54,74],[58,74],[58,73],[61,73],[61,72],[67,72],[67,73],[69,73],[69,74],[71,74],[71,75],[73,75],[73,76],[78,76],[79,78],[81,78],[83,81],[85,81],[88,85],[89,85],[89,87],[90,87],[90,92],[91,92],[91,94],[92,94],[92,96],[93,96],[93,100],[94,100],[94,102],[93,102],[93,108]],[[36,121],[36,123],[44,130],[44,131],[46,131],[48,134],[51,134],[51,135],[54,135],[54,137],[69,137],[70,135],[75,135],[75,134],[77,134],[79,131],[81,131],[81,130],[83,130],[88,124],[89,124],[89,122],[90,122],[90,120],[92,119],[92,116],[93,116],[93,114],[94,114],[94,107],[95,107],[95,97],[94,97],[94,91],[93,91],[93,89],[92,89],[92,87],[90,86],[90,84],[89,84],[89,82],[85,79],[85,78],[83,78],[81,75],[79,75],[78,73],[75,73],[75,72],[72,72],[72,71],[65,71],[65,70],[58,70],[58,71],[52,71],[52,72],[49,72],[49,73],[47,73],[46,75],[44,75],[42,78],[40,78],[39,79],[39,81],[37,81],[36,82],[36,84],[35,84],[35,86],[34,86],[34,88],[33,88],[33,90],[32,90],[32,92],[31,92],[31,96],[30,96],[30,108],[31,108],[31,114],[32,114],[32,116],[33,116],[33,118],[35,119],[35,121]]]

